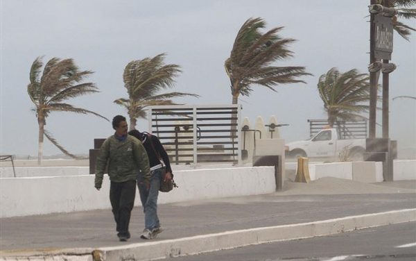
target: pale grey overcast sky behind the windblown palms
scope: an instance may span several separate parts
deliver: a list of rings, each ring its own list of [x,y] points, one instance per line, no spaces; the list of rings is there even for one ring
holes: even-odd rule
[[[316,85],[331,67],[357,68],[367,73],[370,1],[85,1],[0,0],[0,154],[36,155],[38,127],[28,98],[28,72],[37,56],[73,58],[81,69],[95,71],[88,80],[101,92],[69,102],[107,118],[127,115],[115,99],[126,97],[125,65],[159,53],[166,62],[182,66],[175,91],[200,94],[200,99],[177,99],[188,104],[230,104],[229,80],[223,67],[239,28],[249,17],[262,17],[267,30],[285,26],[281,36],[297,40],[294,58],[277,66],[305,66],[314,76],[307,84],[280,85],[277,92],[255,86],[241,96],[242,116],[254,124],[257,115],[271,115],[281,124],[286,142],[309,136],[307,119],[324,119]],[[406,24],[416,27],[416,22]],[[390,74],[390,136],[399,149],[416,148],[416,37],[410,42],[395,34]],[[381,113],[377,116],[381,123]],[[147,121],[138,121],[147,130]],[[46,129],[71,153],[85,153],[94,137],[112,134],[111,124],[92,115],[53,112]],[[377,136],[381,128],[377,127]],[[46,139],[45,139],[46,140]],[[46,140],[44,155],[60,151]]]

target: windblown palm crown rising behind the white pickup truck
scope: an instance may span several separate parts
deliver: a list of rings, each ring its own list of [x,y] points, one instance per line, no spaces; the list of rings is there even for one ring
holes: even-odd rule
[[[328,124],[343,120],[363,119],[360,112],[366,112],[370,106],[370,77],[358,74],[356,69],[341,74],[331,68],[322,74],[318,81],[319,95],[328,114]]]

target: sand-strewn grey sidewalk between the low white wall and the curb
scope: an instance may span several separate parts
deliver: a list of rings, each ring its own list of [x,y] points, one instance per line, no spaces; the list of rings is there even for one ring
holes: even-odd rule
[[[288,182],[284,191],[261,196],[164,204],[158,210],[164,232],[151,242],[416,208],[415,192],[415,180],[364,184],[322,178]],[[118,241],[111,210],[0,219],[1,257],[149,242],[139,237],[144,226],[139,204],[132,212],[128,242]]]

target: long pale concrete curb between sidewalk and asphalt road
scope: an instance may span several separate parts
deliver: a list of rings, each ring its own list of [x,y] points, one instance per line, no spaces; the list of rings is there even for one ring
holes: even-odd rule
[[[0,260],[157,260],[184,255],[196,255],[222,249],[234,249],[241,246],[268,242],[334,235],[352,230],[399,224],[408,221],[416,221],[416,208],[362,214],[302,224],[232,230],[223,233],[182,237],[158,242],[105,247],[89,253],[85,253],[87,249],[84,249],[84,251],[80,251],[80,249],[73,249],[73,251],[67,249],[65,253],[38,253],[37,255],[32,255],[33,258],[29,259],[28,255],[25,255],[24,259],[19,259],[21,256],[10,256],[1,257]]]

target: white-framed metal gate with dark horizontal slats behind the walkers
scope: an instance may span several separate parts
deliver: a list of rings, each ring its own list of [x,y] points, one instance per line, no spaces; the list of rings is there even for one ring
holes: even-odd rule
[[[172,164],[241,162],[241,106],[150,106],[149,130]]]

